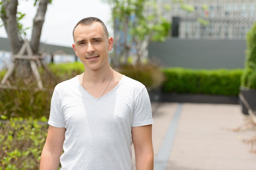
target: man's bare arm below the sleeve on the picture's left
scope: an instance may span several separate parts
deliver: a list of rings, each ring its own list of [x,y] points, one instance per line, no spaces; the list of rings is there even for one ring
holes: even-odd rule
[[[57,170],[63,150],[65,128],[49,125],[45,146],[43,147],[40,161],[40,170]]]

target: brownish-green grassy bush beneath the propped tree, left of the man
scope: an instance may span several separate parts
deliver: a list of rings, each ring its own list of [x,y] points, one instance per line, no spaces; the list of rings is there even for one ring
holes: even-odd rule
[[[0,115],[7,118],[40,118],[49,116],[54,86],[60,78],[41,75],[43,89],[38,89],[34,76],[26,80],[8,79],[11,86],[0,88]]]

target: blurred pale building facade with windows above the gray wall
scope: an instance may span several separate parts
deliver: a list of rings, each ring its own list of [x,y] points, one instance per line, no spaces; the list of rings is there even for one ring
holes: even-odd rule
[[[159,0],[171,5],[174,36],[181,39],[245,39],[256,22],[256,0],[178,1]]]

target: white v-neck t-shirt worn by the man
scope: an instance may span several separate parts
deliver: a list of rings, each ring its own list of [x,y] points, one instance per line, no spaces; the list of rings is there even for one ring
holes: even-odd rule
[[[61,170],[132,170],[132,126],[153,124],[146,87],[127,76],[101,98],[78,77],[56,85],[48,123],[65,127]]]

